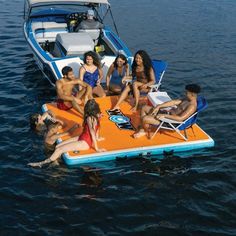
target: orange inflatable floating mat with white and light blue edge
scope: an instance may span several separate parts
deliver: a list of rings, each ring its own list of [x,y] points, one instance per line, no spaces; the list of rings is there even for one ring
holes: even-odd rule
[[[132,134],[140,125],[140,111],[133,113],[131,105],[125,101],[120,106],[120,113],[109,112],[117,99],[117,96],[96,98],[103,114],[100,136],[105,138],[105,140],[98,142],[98,147],[105,148],[107,151],[98,153],[94,149],[90,149],[76,153],[64,153],[63,159],[68,166],[111,161],[116,158],[161,155],[163,151],[184,152],[214,146],[214,140],[197,124],[186,130],[187,141],[183,140],[176,132],[168,130],[159,131],[151,140],[146,136],[134,139]],[[63,120],[66,124],[63,131],[68,130],[75,123],[82,126],[83,118],[74,109],[63,111],[59,110],[55,103],[50,103],[43,105],[42,110],[43,112],[51,110],[58,119]],[[82,127],[75,130],[71,137],[79,136],[81,132]],[[70,136],[64,136],[62,140],[58,141],[61,142],[68,138]]]

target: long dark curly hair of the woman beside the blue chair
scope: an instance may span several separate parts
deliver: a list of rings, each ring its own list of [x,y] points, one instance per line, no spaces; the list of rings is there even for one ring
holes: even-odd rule
[[[150,70],[152,67],[152,60],[149,57],[149,55],[147,54],[146,51],[144,50],[139,50],[135,53],[134,55],[134,62],[132,64],[132,75],[135,76],[136,75],[136,68],[137,68],[137,63],[135,61],[136,56],[139,55],[142,60],[143,60],[143,66],[144,66],[144,74],[147,78],[150,78]]]

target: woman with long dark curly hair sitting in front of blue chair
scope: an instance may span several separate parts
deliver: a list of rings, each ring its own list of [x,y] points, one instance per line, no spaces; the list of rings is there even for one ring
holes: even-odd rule
[[[122,92],[117,104],[112,110],[120,109],[120,104],[128,97],[130,91],[133,91],[135,104],[132,111],[138,108],[140,91],[148,93],[149,86],[155,84],[155,74],[152,67],[152,61],[144,50],[139,50],[134,56],[132,64],[133,83],[128,84]]]

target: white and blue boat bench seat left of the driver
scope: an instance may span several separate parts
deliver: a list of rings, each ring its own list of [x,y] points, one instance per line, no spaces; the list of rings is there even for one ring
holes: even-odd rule
[[[45,41],[54,42],[57,34],[68,32],[66,23],[57,22],[34,22],[32,23],[32,30],[39,43]]]

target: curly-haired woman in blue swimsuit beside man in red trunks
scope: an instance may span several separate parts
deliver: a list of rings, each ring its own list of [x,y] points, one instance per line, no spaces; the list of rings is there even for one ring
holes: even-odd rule
[[[106,96],[100,84],[103,78],[101,62],[95,52],[89,51],[84,54],[84,65],[80,67],[79,78],[92,87],[95,96]]]

